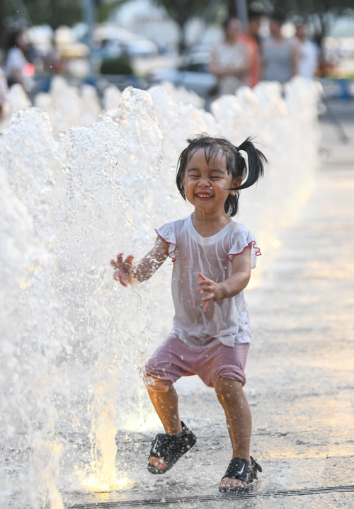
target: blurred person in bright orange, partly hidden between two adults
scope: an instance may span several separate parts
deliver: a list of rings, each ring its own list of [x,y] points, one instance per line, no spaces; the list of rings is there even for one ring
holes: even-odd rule
[[[249,86],[255,86],[261,79],[261,38],[258,33],[263,13],[249,10],[249,25],[246,33],[239,34],[239,40],[246,42],[250,48]]]

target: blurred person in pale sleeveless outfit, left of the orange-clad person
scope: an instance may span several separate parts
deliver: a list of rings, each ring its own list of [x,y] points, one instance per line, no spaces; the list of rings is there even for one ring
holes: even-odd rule
[[[251,47],[239,39],[241,21],[224,21],[224,41],[212,51],[209,71],[217,77],[217,95],[234,94],[236,89],[249,84]]]

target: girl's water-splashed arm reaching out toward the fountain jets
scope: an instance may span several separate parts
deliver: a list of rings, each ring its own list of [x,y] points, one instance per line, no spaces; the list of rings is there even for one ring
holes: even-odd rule
[[[110,261],[110,264],[115,268],[113,278],[123,286],[127,286],[127,283],[133,280],[145,281],[152,277],[168,256],[169,244],[158,236],[154,247],[150,249],[149,253],[135,267],[132,265],[134,256],[127,256],[123,260],[122,253],[118,253],[117,261]]]

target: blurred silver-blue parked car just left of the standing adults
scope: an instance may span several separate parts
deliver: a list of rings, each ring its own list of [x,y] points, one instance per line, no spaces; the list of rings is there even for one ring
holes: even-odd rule
[[[210,54],[193,54],[185,57],[177,69],[156,69],[150,76],[151,84],[170,81],[175,86],[183,86],[187,90],[207,97],[212,88],[215,88],[217,79],[208,72]]]

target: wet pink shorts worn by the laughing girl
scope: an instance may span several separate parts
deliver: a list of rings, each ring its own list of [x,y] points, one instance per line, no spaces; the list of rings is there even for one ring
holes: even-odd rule
[[[226,346],[219,341],[205,348],[191,348],[171,333],[145,366],[144,384],[149,391],[169,391],[181,377],[198,377],[208,387],[215,387],[219,377],[246,383],[249,343]]]

